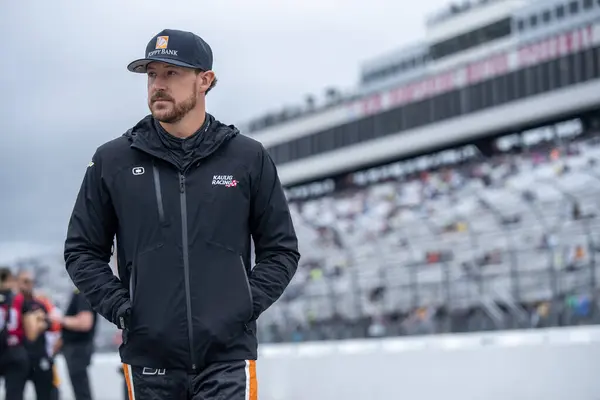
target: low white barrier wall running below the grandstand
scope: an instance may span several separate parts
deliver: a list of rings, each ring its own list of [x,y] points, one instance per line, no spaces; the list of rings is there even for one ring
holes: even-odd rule
[[[95,400],[122,399],[118,366],[95,356]],[[257,366],[260,400],[598,400],[600,327],[264,345]]]

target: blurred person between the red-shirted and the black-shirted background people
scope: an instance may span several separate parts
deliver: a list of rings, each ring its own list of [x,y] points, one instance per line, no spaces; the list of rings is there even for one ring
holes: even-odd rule
[[[56,343],[58,335],[60,335],[60,324],[50,321],[54,306],[48,298],[34,293],[35,277],[32,272],[19,272],[17,282],[24,298],[23,311],[28,313],[40,310],[44,313],[48,325],[46,331],[42,332],[34,341],[25,343],[29,356],[29,380],[35,386],[38,400],[56,400],[58,387],[56,386],[54,356],[58,350]]]

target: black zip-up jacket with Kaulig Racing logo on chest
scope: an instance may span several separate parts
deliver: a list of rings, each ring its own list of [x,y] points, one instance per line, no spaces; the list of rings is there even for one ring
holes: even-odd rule
[[[235,127],[212,117],[206,125],[165,143],[148,116],[99,147],[83,179],[66,268],[106,319],[120,326],[130,311],[125,363],[197,371],[255,359],[255,320],[296,271],[296,234],[273,161]],[[187,161],[174,159],[177,144]],[[108,265],[115,234],[120,280]]]

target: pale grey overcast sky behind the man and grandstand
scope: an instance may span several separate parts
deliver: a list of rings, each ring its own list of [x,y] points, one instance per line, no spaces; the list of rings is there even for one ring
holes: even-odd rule
[[[354,86],[361,62],[422,39],[425,15],[446,3],[3,1],[0,249],[62,246],[95,148],[148,113],[145,76],[125,67],[160,30],[191,30],[211,45],[219,84],[208,111],[238,124]]]

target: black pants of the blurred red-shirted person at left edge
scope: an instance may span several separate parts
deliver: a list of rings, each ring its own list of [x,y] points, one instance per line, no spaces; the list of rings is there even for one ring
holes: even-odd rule
[[[0,376],[4,377],[6,400],[23,400],[29,375],[29,356],[24,347],[11,347],[0,358]]]

